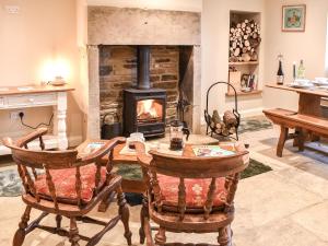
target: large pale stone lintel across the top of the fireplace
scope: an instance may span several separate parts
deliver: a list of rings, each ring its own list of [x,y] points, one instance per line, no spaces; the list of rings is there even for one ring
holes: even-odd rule
[[[90,45],[200,45],[200,13],[89,7],[87,36]]]

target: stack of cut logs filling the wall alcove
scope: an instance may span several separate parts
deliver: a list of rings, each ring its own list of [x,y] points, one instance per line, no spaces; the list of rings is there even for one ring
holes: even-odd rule
[[[253,20],[232,23],[230,30],[230,62],[257,61],[261,42],[260,25]]]

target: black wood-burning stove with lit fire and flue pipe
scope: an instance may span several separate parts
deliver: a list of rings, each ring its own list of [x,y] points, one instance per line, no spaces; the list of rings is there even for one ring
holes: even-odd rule
[[[150,47],[138,46],[138,82],[124,90],[124,133],[145,137],[165,136],[166,91],[150,83]]]

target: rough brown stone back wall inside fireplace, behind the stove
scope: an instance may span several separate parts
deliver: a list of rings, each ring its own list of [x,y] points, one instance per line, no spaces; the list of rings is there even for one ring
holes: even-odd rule
[[[166,121],[176,117],[179,81],[179,47],[152,46],[150,65],[151,84],[167,92]],[[108,113],[122,116],[122,90],[137,83],[137,47],[101,46],[99,101],[101,119]],[[106,121],[117,121],[106,117]]]

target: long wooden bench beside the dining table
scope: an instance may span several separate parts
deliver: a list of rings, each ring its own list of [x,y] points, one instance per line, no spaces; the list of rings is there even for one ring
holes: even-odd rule
[[[303,151],[304,141],[308,134],[328,137],[328,119],[282,108],[266,109],[263,113],[273,124],[280,125],[281,131],[277,145],[277,155],[280,157],[284,142],[289,139],[294,139],[294,147]],[[295,132],[289,133],[289,129],[295,129]]]

